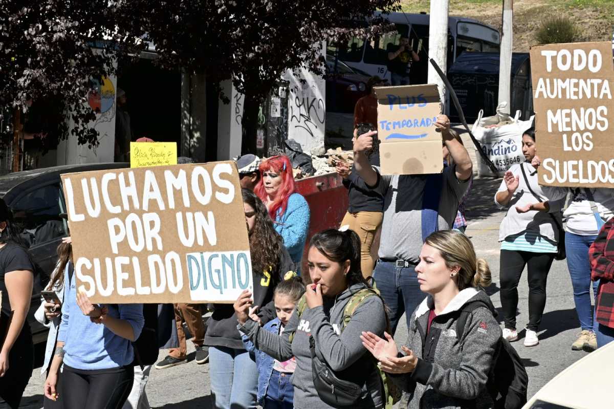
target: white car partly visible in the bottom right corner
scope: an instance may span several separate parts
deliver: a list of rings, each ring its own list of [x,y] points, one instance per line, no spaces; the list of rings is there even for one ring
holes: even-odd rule
[[[523,409],[612,408],[614,342],[604,345],[554,376]]]

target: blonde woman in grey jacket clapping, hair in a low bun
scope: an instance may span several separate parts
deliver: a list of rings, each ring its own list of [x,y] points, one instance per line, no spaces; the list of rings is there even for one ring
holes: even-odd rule
[[[493,407],[486,381],[502,332],[483,290],[491,284],[488,264],[476,259],[467,236],[441,230],[426,238],[416,273],[428,295],[411,316],[402,355],[388,333],[363,332],[363,345],[411,393],[408,408]],[[461,329],[463,310],[471,312]]]

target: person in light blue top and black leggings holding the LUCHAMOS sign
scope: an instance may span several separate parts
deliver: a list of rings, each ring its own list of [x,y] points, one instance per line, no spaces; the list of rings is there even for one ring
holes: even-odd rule
[[[45,381],[45,397],[64,409],[122,407],[134,381],[134,348],[144,327],[142,304],[95,305],[64,269],[64,305],[55,354]],[[62,388],[56,388],[58,371]]]

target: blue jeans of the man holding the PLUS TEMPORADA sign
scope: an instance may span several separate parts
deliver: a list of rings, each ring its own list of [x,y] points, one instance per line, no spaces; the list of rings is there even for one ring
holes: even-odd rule
[[[426,294],[420,290],[415,267],[396,267],[393,262],[378,260],[373,279],[384,303],[390,309],[391,335],[397,330],[398,321],[407,313],[407,327],[410,327],[411,313]]]

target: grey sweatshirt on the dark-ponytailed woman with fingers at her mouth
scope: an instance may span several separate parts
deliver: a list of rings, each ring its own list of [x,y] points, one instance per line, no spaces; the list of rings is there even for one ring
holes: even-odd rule
[[[383,407],[381,378],[375,372],[373,358],[360,341],[362,331],[384,336],[386,316],[381,299],[368,297],[364,300],[339,335],[344,308],[352,294],[363,287],[363,284],[355,284],[337,295],[334,300],[325,299],[324,306],[308,308],[300,317],[295,310],[281,336],[263,330],[251,320],[247,320],[243,326],[238,325],[238,329],[245,333],[260,351],[281,362],[292,356],[296,357],[297,368],[293,378],[296,409],[331,408],[322,402],[313,384],[309,335],[314,338],[319,359],[327,362],[339,378],[357,383],[361,380],[364,382],[367,378],[362,399],[352,408]],[[294,333],[292,343],[291,333]],[[371,375],[367,376],[369,373]]]

